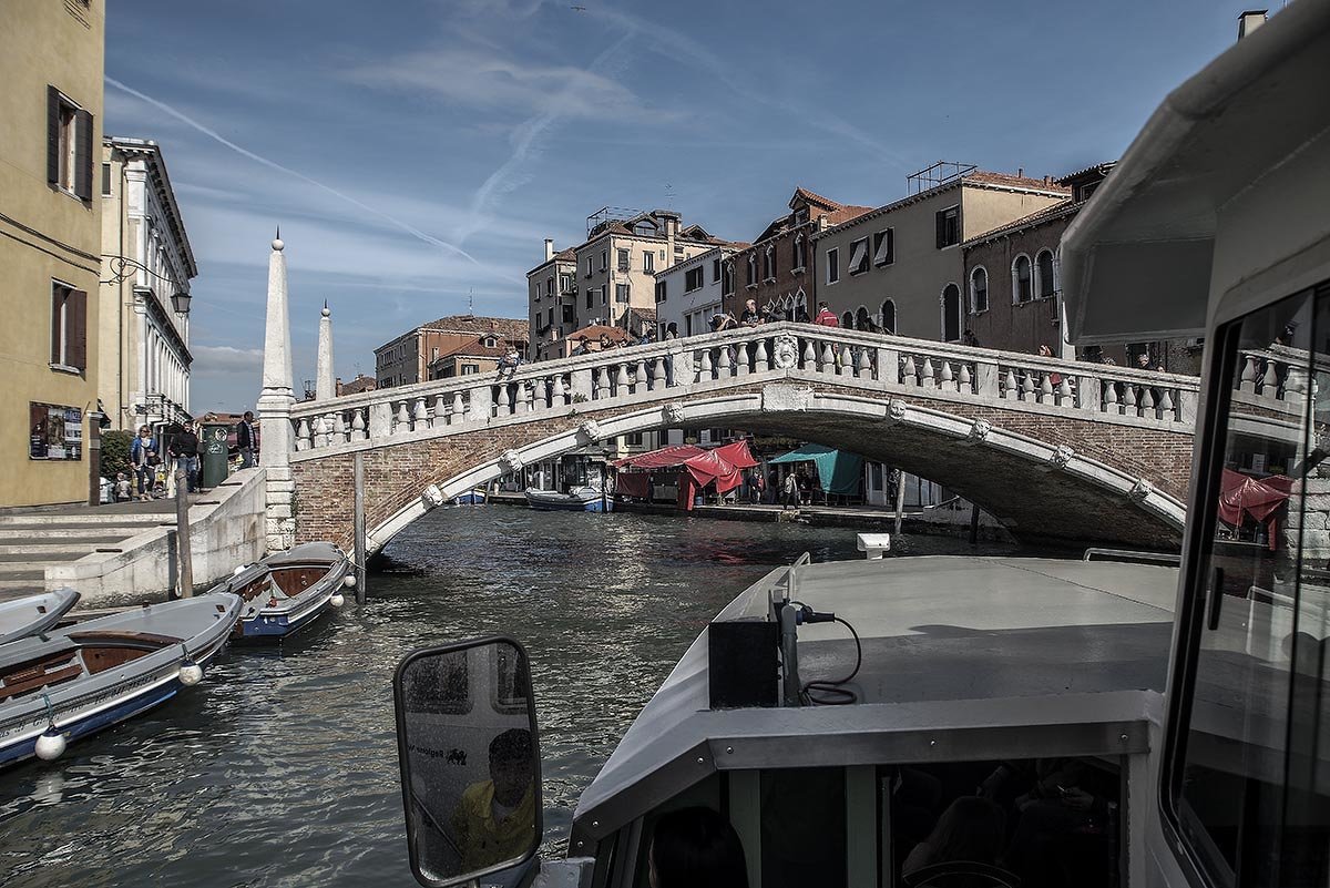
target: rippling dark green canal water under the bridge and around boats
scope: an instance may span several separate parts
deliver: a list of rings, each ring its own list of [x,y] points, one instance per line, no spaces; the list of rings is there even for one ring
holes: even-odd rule
[[[674,516],[436,509],[348,604],[281,651],[231,650],[149,715],[0,772],[0,884],[414,885],[391,677],[501,631],[532,657],[545,852],[712,615],[771,566],[863,557],[854,532]],[[999,553],[944,537],[892,554]]]

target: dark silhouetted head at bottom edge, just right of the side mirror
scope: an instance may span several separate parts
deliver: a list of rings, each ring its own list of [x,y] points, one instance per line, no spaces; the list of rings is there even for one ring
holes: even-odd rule
[[[646,855],[652,888],[747,888],[743,845],[710,808],[661,815]]]

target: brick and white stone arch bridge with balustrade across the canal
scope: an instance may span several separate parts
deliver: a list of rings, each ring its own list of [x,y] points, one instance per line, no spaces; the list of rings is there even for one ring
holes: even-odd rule
[[[1253,359],[1256,360],[1256,359]],[[1301,396],[1267,386],[1273,413]],[[777,323],[297,404],[278,544],[352,541],[363,453],[367,549],[476,484],[597,440],[732,427],[842,447],[938,481],[1025,540],[1172,546],[1197,380]]]

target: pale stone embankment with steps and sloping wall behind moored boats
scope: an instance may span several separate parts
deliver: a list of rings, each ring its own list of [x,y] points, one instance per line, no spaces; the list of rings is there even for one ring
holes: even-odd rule
[[[190,496],[194,585],[263,557],[263,469]],[[178,570],[174,500],[8,509],[0,513],[0,601],[72,586],[81,606],[160,600]]]

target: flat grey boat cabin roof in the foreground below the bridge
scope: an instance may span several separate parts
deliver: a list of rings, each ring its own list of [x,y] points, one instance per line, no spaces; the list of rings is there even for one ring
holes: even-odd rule
[[[789,569],[771,572],[717,619],[765,618],[789,582]],[[862,639],[845,685],[857,702],[712,711],[704,633],[581,795],[575,835],[598,839],[717,770],[1144,751],[1176,589],[1177,568],[1108,561],[799,566],[790,598],[835,611]],[[798,645],[803,682],[854,669],[838,623],[802,626]]]

